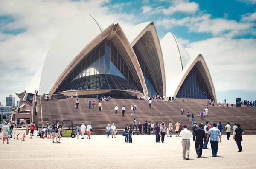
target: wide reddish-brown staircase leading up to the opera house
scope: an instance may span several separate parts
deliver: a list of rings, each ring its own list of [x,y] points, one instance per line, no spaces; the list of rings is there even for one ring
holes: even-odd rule
[[[53,124],[54,121],[59,120],[73,120],[73,129],[79,124],[84,122],[86,125],[90,122],[93,127],[92,134],[103,135],[105,134],[105,128],[108,124],[115,123],[119,134],[125,128],[126,124],[133,124],[134,118],[138,123],[144,124],[145,121],[150,123],[164,122],[166,126],[172,123],[174,127],[173,134],[175,134],[175,123],[180,121],[183,125],[186,124],[189,130],[192,130],[191,119],[188,121],[186,117],[187,112],[195,115],[194,122],[206,123],[210,121],[212,123],[221,122],[223,125],[222,134],[226,132],[225,125],[230,122],[231,127],[234,123],[240,123],[241,128],[247,135],[256,134],[256,117],[252,108],[249,107],[212,107],[209,106],[208,116],[204,120],[201,120],[200,111],[204,110],[206,104],[201,104],[193,101],[176,101],[176,102],[164,102],[164,101],[152,101],[152,108],[149,108],[147,100],[129,100],[129,99],[112,99],[111,101],[102,102],[102,112],[99,112],[98,103],[96,101],[96,111],[88,108],[89,98],[79,98],[79,108],[76,109],[76,98],[67,98],[57,101],[41,100],[42,113],[38,115],[38,124],[41,122],[41,115],[43,116],[44,126],[48,121]],[[114,113],[114,107],[119,107],[117,115]],[[136,115],[131,115],[131,105],[137,105]],[[121,108],[125,106],[125,117],[122,116]],[[183,107],[184,114],[181,116],[180,109]],[[68,128],[71,124],[64,124],[64,128]],[[39,127],[40,129],[40,127]],[[138,131],[138,130],[137,130]]]

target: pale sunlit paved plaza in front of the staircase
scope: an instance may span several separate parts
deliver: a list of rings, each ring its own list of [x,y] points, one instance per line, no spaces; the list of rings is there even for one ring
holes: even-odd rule
[[[20,132],[23,131],[25,130]],[[29,139],[27,135],[26,141],[12,139],[9,145],[0,145],[0,169],[7,166],[28,169],[256,168],[256,135],[243,136],[243,152],[237,152],[235,141],[228,141],[225,135],[222,138],[222,143],[218,146],[219,157],[212,157],[209,149],[203,150],[203,158],[196,158],[195,144],[192,141],[190,159],[183,160],[181,138],[176,137],[166,137],[162,144],[155,143],[154,135],[134,135],[133,143],[129,144],[125,143],[122,135],[117,135],[116,139],[92,135],[90,140],[82,140],[81,136],[79,139],[61,138],[61,144],[56,144],[51,139],[36,136]]]

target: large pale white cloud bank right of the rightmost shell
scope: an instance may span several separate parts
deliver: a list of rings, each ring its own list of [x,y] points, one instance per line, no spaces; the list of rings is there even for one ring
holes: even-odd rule
[[[204,56],[215,90],[252,90],[256,83],[255,44],[256,39],[216,37],[190,43],[186,50],[190,56]]]

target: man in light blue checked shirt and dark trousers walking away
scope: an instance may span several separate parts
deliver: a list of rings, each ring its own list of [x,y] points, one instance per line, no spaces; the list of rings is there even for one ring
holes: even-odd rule
[[[217,129],[217,124],[213,123],[213,128],[209,130],[206,140],[209,140],[211,135],[211,147],[212,147],[212,157],[217,157],[218,152],[218,142],[221,143],[221,132]]]

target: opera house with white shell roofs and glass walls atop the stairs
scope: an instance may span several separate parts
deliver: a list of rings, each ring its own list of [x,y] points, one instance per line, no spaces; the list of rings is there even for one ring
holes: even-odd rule
[[[103,30],[84,12],[61,28],[44,64],[17,95],[31,101],[35,90],[68,96],[78,91],[79,97],[165,95],[216,101],[204,57],[189,56],[173,34],[160,41],[153,22],[125,31],[113,23]]]

